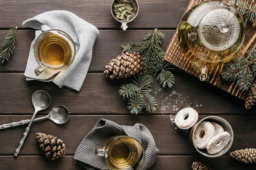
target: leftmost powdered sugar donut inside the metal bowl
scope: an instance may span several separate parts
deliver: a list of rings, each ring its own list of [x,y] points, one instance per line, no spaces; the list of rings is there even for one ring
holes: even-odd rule
[[[193,143],[199,149],[205,149],[209,140],[215,135],[213,124],[202,121],[195,129]]]

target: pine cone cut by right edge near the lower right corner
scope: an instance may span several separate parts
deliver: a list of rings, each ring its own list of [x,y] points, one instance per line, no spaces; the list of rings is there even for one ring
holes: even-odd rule
[[[256,163],[256,148],[235,150],[229,155],[232,158],[244,163]]]

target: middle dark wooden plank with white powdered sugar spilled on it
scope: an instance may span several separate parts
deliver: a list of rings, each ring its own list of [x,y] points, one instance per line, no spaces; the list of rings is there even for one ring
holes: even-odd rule
[[[118,93],[129,79],[111,81],[103,73],[88,73],[80,92],[58,88],[51,82],[26,81],[23,73],[0,73],[0,79],[0,114],[34,113],[31,95],[39,89],[49,93],[51,106],[63,104],[72,114],[130,114],[127,101]],[[155,77],[152,94],[158,102],[155,114],[177,113],[189,106],[207,114],[255,114],[256,110],[245,110],[243,102],[235,97],[183,73],[175,73],[171,89],[159,86]],[[40,113],[49,113],[50,109]]]

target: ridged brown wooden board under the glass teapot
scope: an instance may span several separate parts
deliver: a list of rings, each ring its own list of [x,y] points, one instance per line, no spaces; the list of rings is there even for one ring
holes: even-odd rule
[[[248,4],[254,4],[256,0],[247,0]],[[204,2],[204,0],[190,0],[184,14],[196,4]],[[184,15],[183,14],[183,15]],[[255,25],[248,22],[245,23],[245,40],[243,43],[242,48],[238,52],[238,55],[245,55],[246,51],[250,49],[252,46],[256,45],[256,29],[254,28]],[[188,60],[185,55],[182,53],[182,49],[180,48],[179,41],[178,41],[178,27],[166,49],[166,53],[164,56],[164,60],[173,64],[178,69],[185,71],[195,77],[198,77],[199,74],[196,73],[193,68],[191,67],[191,62]],[[208,78],[206,82],[221,88],[224,91],[227,91],[231,95],[238,97],[239,99],[244,100],[247,91],[239,90],[239,87],[236,85],[236,82],[227,82],[221,78],[221,71],[223,69],[223,64],[219,66],[215,66],[209,69],[208,71]],[[199,78],[198,78],[199,79]]]

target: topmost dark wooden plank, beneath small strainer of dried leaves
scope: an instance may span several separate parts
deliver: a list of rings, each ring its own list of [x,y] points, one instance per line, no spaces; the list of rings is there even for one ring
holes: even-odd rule
[[[22,27],[22,22],[40,13],[65,10],[100,29],[120,29],[110,13],[112,0],[1,0],[0,28]],[[128,24],[133,28],[175,28],[189,0],[138,0],[139,15]],[[162,12],[161,12],[162,11]],[[166,20],[168,18],[168,21]]]

